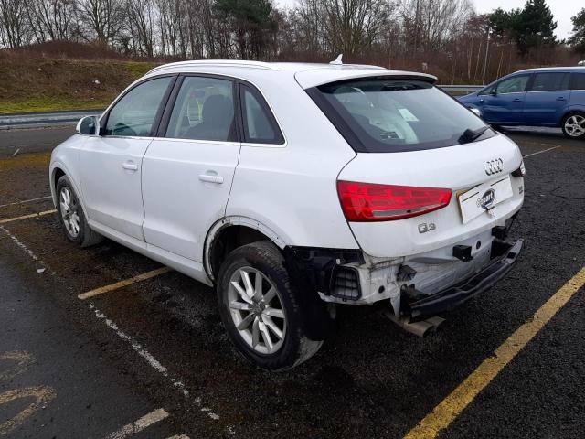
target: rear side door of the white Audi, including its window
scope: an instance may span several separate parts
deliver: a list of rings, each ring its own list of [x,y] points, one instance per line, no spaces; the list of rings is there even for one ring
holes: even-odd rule
[[[144,238],[202,262],[207,230],[225,214],[239,138],[234,80],[184,76],[143,161]]]

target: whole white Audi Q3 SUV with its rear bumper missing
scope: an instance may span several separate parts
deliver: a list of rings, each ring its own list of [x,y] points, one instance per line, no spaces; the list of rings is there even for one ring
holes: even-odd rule
[[[518,147],[435,80],[157,67],[53,151],[59,219],[69,241],[107,237],[215,286],[233,343],[265,369],[310,358],[338,305],[429,327],[516,262],[525,173]]]

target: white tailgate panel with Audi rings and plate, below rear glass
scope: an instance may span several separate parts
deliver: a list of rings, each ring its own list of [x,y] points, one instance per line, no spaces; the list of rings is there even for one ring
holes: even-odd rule
[[[521,162],[516,144],[498,134],[437,149],[360,153],[338,180],[452,189],[449,205],[439,210],[407,219],[349,222],[367,254],[402,257],[440,249],[503,225],[522,206],[524,179],[511,175]]]

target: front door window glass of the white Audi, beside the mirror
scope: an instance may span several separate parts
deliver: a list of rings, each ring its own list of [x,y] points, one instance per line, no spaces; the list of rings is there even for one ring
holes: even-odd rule
[[[106,135],[150,136],[156,113],[173,78],[147,80],[122,96],[110,110]]]

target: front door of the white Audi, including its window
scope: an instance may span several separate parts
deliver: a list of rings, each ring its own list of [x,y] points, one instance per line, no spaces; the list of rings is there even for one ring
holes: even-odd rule
[[[101,135],[80,151],[80,180],[86,213],[102,226],[144,241],[142,163],[173,77],[146,80],[126,92],[104,114]]]

